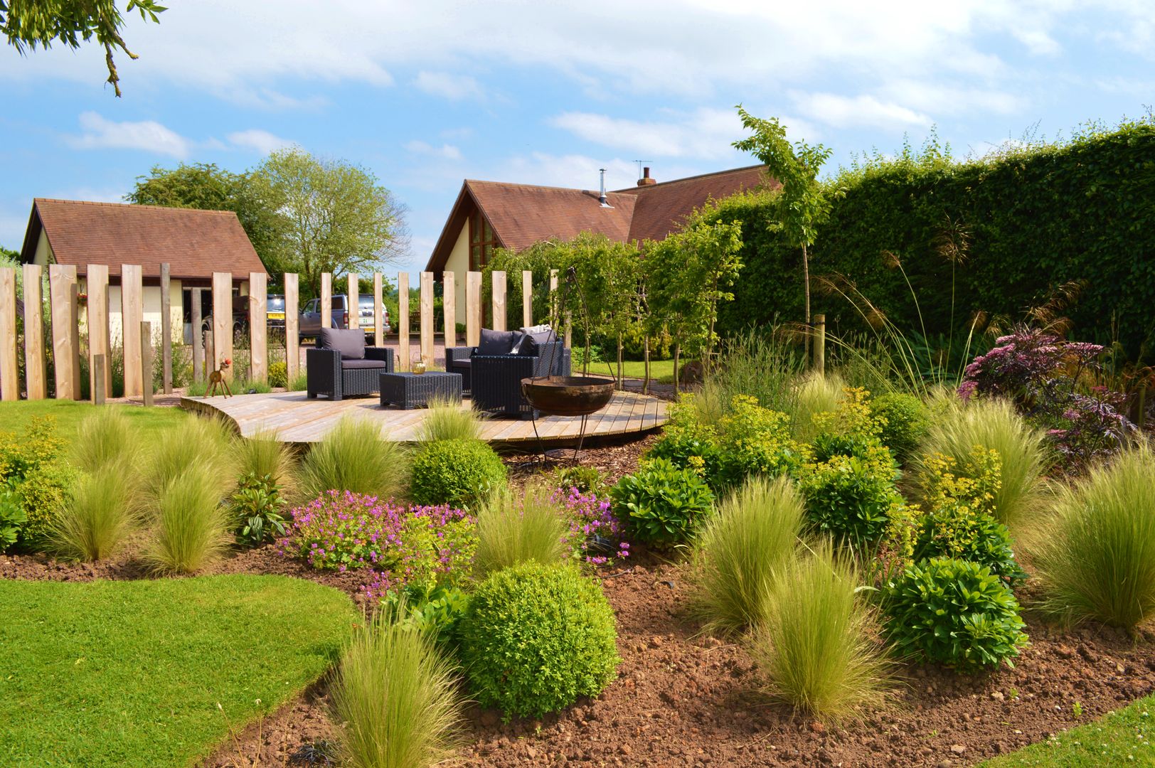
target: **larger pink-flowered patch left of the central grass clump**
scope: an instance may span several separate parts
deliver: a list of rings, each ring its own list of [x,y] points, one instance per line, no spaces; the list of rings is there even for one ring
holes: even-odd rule
[[[476,521],[448,506],[405,507],[350,491],[328,491],[290,513],[282,554],[314,568],[366,569],[371,592],[456,581],[469,572]]]

